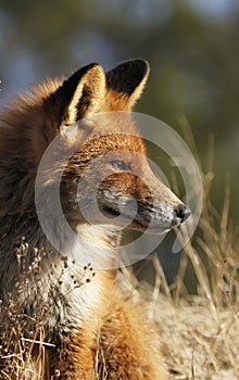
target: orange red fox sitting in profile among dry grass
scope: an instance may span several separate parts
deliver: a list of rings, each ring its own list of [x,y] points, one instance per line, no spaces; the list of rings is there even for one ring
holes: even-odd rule
[[[168,378],[156,327],[117,267],[123,228],[162,235],[190,215],[152,172],[131,117],[149,72],[141,59],[109,72],[88,64],[1,111],[0,320],[10,324],[15,300],[23,379]],[[1,377],[17,379],[11,360],[2,352]]]

